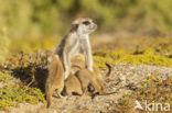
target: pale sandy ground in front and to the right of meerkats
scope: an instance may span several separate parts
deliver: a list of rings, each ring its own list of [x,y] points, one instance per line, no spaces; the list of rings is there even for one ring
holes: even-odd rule
[[[106,72],[101,70],[103,75]],[[51,109],[45,104],[18,104],[9,111],[0,113],[115,113],[116,103],[125,94],[141,87],[147,76],[155,75],[159,79],[168,79],[172,76],[172,68],[157,66],[137,66],[119,64],[114,66],[112,75],[105,80],[106,92],[115,92],[108,95],[90,97],[71,95],[63,99],[53,98]]]

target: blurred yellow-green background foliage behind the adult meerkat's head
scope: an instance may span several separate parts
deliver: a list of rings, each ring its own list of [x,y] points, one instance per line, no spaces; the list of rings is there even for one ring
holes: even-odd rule
[[[0,0],[0,59],[52,48],[78,16],[98,24],[95,37],[170,37],[171,11],[172,0]]]

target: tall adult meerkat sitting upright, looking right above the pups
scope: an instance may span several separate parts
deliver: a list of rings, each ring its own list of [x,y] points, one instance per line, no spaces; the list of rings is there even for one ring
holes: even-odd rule
[[[89,34],[97,29],[97,25],[88,18],[76,19],[72,23],[69,33],[64,36],[55,53],[60,56],[64,76],[67,79],[71,74],[71,57],[82,53],[85,56],[86,68],[93,71],[93,56],[89,42]]]

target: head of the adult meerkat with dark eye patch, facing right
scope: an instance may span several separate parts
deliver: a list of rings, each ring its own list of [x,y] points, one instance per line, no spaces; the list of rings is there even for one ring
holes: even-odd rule
[[[89,18],[79,18],[73,22],[73,27],[79,34],[90,34],[97,29],[97,24]]]

